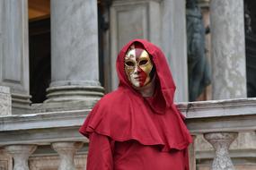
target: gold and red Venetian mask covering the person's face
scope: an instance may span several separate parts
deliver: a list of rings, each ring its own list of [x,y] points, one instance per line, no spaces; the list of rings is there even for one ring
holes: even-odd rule
[[[134,88],[146,86],[152,78],[153,62],[142,47],[132,45],[125,56],[125,72]]]

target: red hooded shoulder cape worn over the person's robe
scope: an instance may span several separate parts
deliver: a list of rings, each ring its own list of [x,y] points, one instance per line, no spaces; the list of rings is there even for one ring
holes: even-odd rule
[[[133,89],[124,71],[124,56],[134,42],[141,43],[154,61],[157,87],[152,98],[143,98]],[[186,149],[192,141],[190,132],[173,103],[175,85],[160,48],[144,39],[130,41],[119,52],[117,71],[119,88],[93,107],[79,132],[86,137],[97,132],[112,140],[137,140],[163,151]]]

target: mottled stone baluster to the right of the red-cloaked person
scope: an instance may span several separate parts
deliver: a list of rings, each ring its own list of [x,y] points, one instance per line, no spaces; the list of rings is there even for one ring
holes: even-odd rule
[[[229,146],[236,139],[237,132],[213,132],[204,134],[204,138],[216,150],[211,170],[234,170],[234,165],[229,157]]]

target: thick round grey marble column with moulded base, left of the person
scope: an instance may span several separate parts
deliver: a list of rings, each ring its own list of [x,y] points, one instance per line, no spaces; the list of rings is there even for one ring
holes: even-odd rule
[[[101,98],[97,1],[52,0],[50,8],[51,83],[46,102]]]

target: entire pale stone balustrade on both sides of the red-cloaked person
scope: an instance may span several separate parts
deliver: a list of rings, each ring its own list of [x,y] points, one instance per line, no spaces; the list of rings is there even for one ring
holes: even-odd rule
[[[229,146],[238,132],[255,131],[255,104],[255,98],[179,104],[181,112],[187,116],[190,132],[203,134],[216,150],[212,170],[234,169],[228,154]],[[0,117],[0,147],[13,157],[13,169],[28,170],[28,158],[40,146],[51,146],[56,150],[59,170],[75,169],[75,152],[83,143],[88,143],[78,132],[90,111],[82,109],[83,106],[83,103],[58,107],[42,104],[31,106],[29,115]],[[192,147],[190,154],[190,169],[195,170]]]

